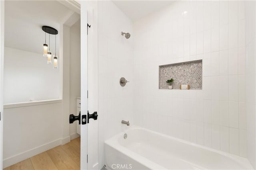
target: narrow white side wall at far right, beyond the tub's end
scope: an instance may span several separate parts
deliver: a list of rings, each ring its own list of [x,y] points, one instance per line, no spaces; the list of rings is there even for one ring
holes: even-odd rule
[[[256,168],[255,156],[255,119],[256,119],[256,74],[255,74],[255,1],[245,2],[245,30],[246,30],[246,115],[247,115],[247,154],[248,160]]]

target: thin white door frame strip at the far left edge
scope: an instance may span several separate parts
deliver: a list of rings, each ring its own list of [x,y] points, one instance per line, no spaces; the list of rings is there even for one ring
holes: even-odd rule
[[[3,65],[4,65],[4,1],[0,1],[0,170],[3,168]]]

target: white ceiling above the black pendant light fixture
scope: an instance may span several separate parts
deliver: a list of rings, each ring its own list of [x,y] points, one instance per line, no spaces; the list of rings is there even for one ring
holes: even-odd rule
[[[5,1],[5,46],[42,53],[45,41],[42,26],[48,25],[59,31],[60,23],[73,13],[57,1]],[[58,53],[59,34],[56,39]],[[50,50],[54,54],[55,36],[51,35],[50,40]],[[49,47],[48,34],[46,43]]]

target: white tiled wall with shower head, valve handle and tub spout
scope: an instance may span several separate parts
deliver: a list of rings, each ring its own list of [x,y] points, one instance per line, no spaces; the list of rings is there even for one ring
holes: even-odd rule
[[[126,39],[121,32],[129,32]],[[133,123],[132,21],[111,1],[98,2],[99,115],[104,116],[104,139]],[[121,77],[130,81],[121,87]]]

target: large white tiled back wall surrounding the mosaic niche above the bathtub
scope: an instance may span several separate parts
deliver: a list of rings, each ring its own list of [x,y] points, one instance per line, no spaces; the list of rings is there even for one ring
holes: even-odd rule
[[[244,13],[244,1],[177,1],[134,23],[134,124],[247,156]],[[196,59],[203,90],[158,89],[159,65]]]

